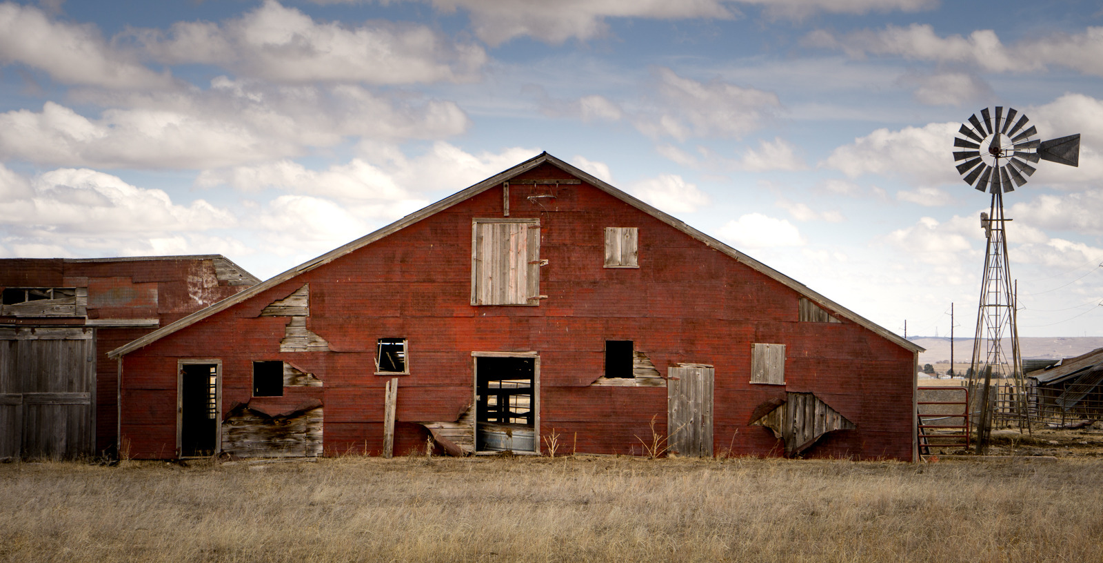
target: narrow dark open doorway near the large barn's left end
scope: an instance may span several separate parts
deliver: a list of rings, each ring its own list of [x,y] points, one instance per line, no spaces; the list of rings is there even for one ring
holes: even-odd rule
[[[181,360],[176,404],[176,456],[205,457],[219,450],[221,363]]]

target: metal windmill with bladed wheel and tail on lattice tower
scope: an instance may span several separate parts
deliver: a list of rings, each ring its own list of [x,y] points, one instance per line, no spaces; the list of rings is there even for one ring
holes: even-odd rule
[[[977,423],[977,449],[990,428],[987,405],[990,376],[1015,380],[1014,411],[1020,425],[1027,418],[1026,394],[1022,386],[1022,359],[1019,355],[1019,334],[1016,328],[1015,287],[1007,259],[1007,237],[1004,226],[1010,219],[1004,216],[1004,193],[1027,183],[1039,160],[1059,162],[1071,167],[1080,162],[1080,134],[1042,141],[1035,137],[1038,130],[1025,114],[996,106],[995,119],[988,108],[981,110],[981,118],[973,114],[962,124],[954,137],[954,161],[965,183],[992,194],[988,213],[981,214],[987,245],[984,255],[984,276],[981,282],[981,304],[977,308],[976,336],[973,339],[973,361],[970,371],[968,393],[984,380],[979,397],[981,419]],[[1007,355],[1004,339],[1009,339],[1011,355]],[[982,374],[982,369],[984,374]],[[983,433],[983,434],[982,434]]]

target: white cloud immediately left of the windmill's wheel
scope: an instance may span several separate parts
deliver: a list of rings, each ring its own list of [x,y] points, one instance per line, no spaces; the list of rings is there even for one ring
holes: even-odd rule
[[[952,160],[953,138],[960,127],[961,124],[953,123],[898,131],[877,129],[852,145],[836,148],[820,166],[839,170],[849,178],[881,174],[913,185],[960,182]]]

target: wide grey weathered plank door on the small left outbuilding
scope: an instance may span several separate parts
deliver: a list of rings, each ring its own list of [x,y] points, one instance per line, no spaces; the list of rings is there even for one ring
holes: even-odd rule
[[[0,329],[0,459],[93,453],[93,329]]]

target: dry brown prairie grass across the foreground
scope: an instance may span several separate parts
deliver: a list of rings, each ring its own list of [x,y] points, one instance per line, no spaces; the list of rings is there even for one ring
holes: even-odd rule
[[[0,465],[2,561],[1103,561],[1103,460]]]

